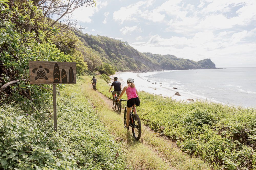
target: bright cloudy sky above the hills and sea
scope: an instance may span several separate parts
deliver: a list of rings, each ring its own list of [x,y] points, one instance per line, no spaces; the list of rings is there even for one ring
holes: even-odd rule
[[[256,67],[255,0],[98,0],[73,15],[84,33],[127,41],[140,52]]]

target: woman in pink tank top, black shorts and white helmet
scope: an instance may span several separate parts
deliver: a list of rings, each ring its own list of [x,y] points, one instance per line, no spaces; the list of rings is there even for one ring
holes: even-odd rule
[[[123,88],[122,93],[120,94],[120,96],[118,97],[118,101],[120,101],[120,98],[123,96],[124,92],[126,91],[126,95],[127,95],[127,113],[126,113],[126,126],[124,128],[126,128],[127,130],[129,130],[129,120],[130,120],[130,112],[132,109],[133,104],[136,104],[136,106],[140,106],[140,98],[138,96],[138,91],[135,88],[135,84],[134,84],[134,80],[133,79],[128,79],[127,80],[127,86],[125,86]],[[136,107],[134,106],[133,111],[135,114],[137,114],[136,111]],[[127,125],[128,124],[128,125]]]

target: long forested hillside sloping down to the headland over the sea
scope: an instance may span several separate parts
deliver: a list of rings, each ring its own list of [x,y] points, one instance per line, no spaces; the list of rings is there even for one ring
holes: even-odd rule
[[[177,58],[173,55],[140,53],[127,42],[106,36],[76,33],[84,45],[91,47],[102,62],[111,64],[116,71],[152,71],[177,69],[212,69],[216,68],[210,59],[198,62]]]

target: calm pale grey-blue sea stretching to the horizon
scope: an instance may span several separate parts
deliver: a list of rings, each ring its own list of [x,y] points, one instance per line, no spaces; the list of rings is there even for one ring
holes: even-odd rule
[[[256,108],[256,67],[172,70],[139,74],[165,88],[243,107]]]

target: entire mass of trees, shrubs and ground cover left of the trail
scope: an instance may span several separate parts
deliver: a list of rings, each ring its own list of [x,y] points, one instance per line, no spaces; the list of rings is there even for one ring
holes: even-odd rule
[[[29,60],[74,61],[78,75],[101,64],[72,24],[47,17],[61,3],[0,0],[0,169],[124,169],[120,146],[80,93],[81,81],[57,86],[58,133],[52,86],[29,85]]]

